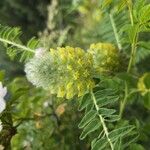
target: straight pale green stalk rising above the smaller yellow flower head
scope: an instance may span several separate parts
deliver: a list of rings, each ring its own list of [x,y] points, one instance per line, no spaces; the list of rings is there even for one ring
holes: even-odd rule
[[[113,31],[114,31],[114,35],[115,35],[115,39],[116,39],[116,42],[117,42],[117,45],[118,45],[118,49],[121,50],[122,49],[122,45],[121,45],[121,42],[119,40],[117,27],[116,27],[116,24],[115,24],[115,21],[114,21],[112,13],[109,14],[109,18],[110,18],[110,22],[111,22],[111,25],[112,25],[112,28],[113,28]]]

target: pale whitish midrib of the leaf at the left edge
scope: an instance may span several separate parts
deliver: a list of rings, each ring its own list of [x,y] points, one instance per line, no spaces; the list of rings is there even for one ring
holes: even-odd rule
[[[3,42],[3,43],[7,43],[7,44],[10,44],[10,45],[13,45],[13,46],[18,47],[18,48],[21,48],[22,50],[35,53],[35,51],[34,51],[33,49],[30,49],[30,48],[28,48],[28,47],[26,47],[26,46],[23,46],[23,45],[20,45],[20,44],[11,42],[11,41],[9,41],[9,40],[5,40],[5,39],[0,38],[0,41]]]

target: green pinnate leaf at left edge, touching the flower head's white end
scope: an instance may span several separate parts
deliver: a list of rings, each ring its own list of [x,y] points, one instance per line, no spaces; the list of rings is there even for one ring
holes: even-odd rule
[[[28,41],[27,46],[23,46],[20,40],[21,31],[19,28],[10,28],[0,26],[0,41],[5,43],[7,54],[11,59],[19,55],[20,61],[27,61],[30,59],[35,48],[38,46],[38,41],[32,38]]]

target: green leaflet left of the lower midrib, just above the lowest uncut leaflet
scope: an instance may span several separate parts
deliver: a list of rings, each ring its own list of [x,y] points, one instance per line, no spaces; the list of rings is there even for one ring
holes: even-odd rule
[[[83,128],[89,122],[91,122],[96,117],[97,112],[95,110],[89,111],[85,116],[82,118],[81,122],[79,123],[78,127]]]

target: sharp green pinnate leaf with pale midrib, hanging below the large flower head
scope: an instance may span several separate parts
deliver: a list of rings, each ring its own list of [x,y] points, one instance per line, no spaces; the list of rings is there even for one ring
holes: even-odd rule
[[[114,149],[117,146],[116,143],[134,129],[134,126],[127,125],[108,131],[106,123],[116,122],[120,117],[115,114],[115,109],[106,107],[117,102],[118,99],[119,95],[115,89],[101,89],[91,94],[88,93],[81,100],[79,109],[86,111],[78,125],[79,128],[83,129],[80,139],[83,140],[92,132],[100,133],[92,136],[94,138],[91,145],[93,150],[106,149],[106,147]]]

